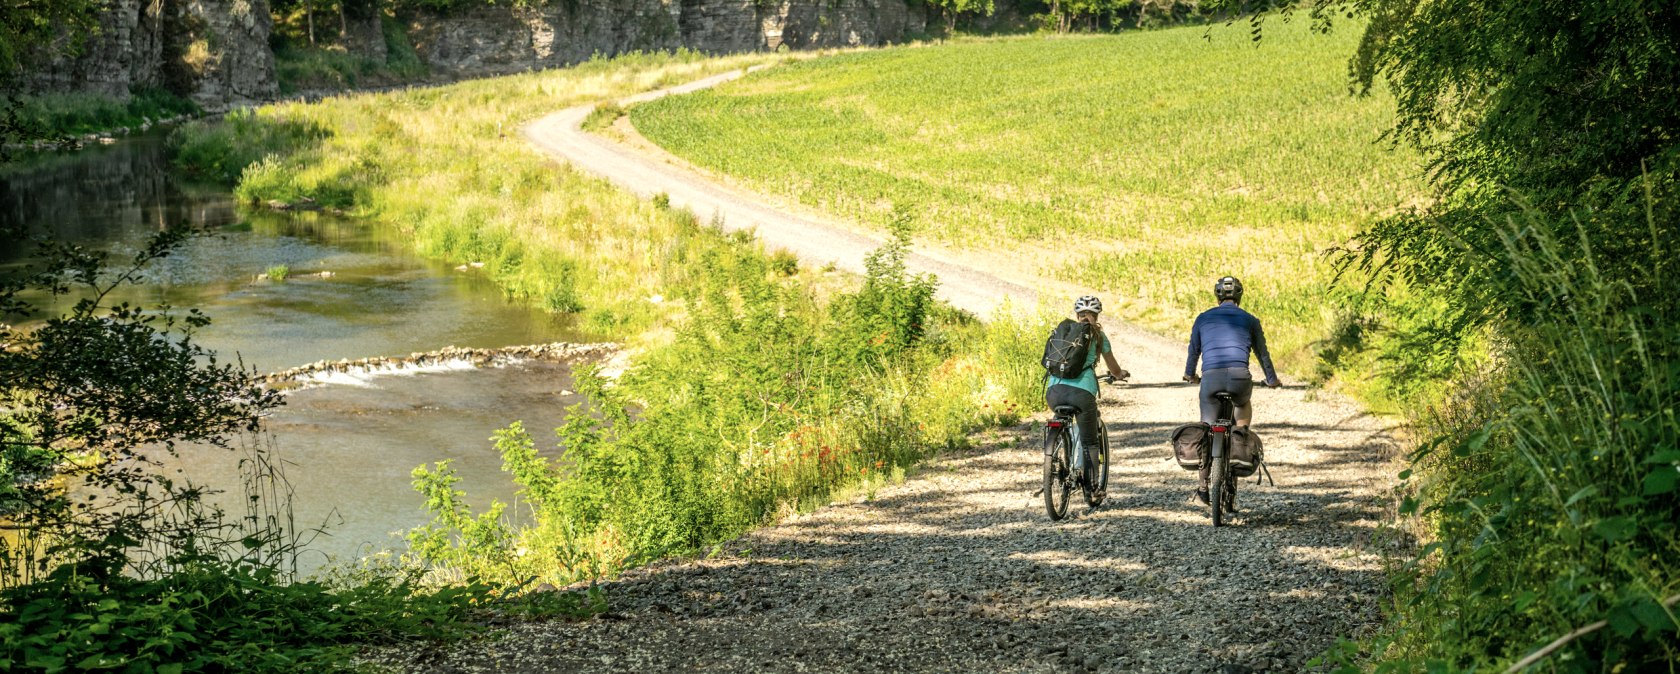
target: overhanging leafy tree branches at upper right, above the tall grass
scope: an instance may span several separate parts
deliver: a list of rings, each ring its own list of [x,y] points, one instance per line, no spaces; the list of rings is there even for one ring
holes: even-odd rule
[[[1539,306],[1505,291],[1515,264],[1494,222],[1578,227],[1608,281],[1636,304],[1663,279],[1630,261],[1680,244],[1680,7],[1368,0],[1354,82],[1383,79],[1391,138],[1430,160],[1438,200],[1361,234],[1352,262],[1450,294],[1463,329]],[[1519,195],[1512,198],[1512,195]],[[1651,208],[1646,213],[1646,208]]]

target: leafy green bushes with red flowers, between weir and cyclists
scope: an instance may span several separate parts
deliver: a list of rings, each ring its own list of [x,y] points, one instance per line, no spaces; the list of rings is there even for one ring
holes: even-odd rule
[[[517,424],[497,434],[533,521],[501,503],[472,514],[447,464],[420,467],[433,523],[410,533],[413,550],[487,578],[598,578],[900,479],[1042,395],[1030,365],[1045,328],[937,309],[932,281],[904,271],[907,239],[827,306],[751,242],[727,240],[697,261],[697,282],[670,289],[690,306],[674,343],[617,385],[576,376],[590,403],[556,430],[564,464]]]

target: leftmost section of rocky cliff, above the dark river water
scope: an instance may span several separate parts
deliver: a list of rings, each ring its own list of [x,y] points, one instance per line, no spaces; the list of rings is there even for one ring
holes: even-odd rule
[[[32,91],[128,96],[161,87],[217,109],[274,97],[267,0],[111,0],[74,59],[35,67]]]

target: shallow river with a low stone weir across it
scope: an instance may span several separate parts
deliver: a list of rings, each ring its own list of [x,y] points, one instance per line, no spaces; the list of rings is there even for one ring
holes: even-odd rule
[[[568,319],[507,301],[482,269],[427,261],[398,232],[319,212],[239,208],[227,190],[171,171],[161,136],[0,168],[0,232],[77,242],[116,254],[170,222],[218,234],[150,267],[118,301],[197,308],[213,321],[197,340],[222,360],[259,371],[319,360],[400,356],[444,346],[499,348],[596,341]],[[0,272],[30,261],[32,247],[0,234]],[[260,277],[286,266],[286,281]],[[326,272],[326,274],[323,274]],[[62,303],[60,303],[62,306]],[[276,455],[296,489],[299,526],[326,524],[301,560],[316,568],[381,548],[393,531],[422,524],[410,489],[415,466],[454,459],[470,503],[512,498],[487,440],[522,420],[539,447],[580,398],[559,363],[422,368],[333,376],[286,395],[267,422]],[[235,452],[186,447],[175,461],[202,484],[240,492]]]

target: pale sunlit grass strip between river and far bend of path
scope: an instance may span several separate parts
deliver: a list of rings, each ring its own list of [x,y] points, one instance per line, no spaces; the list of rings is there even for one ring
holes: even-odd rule
[[[669,309],[648,298],[689,272],[689,259],[707,245],[701,229],[689,213],[541,155],[521,128],[568,106],[774,59],[627,55],[444,87],[274,104],[225,126],[195,124],[176,145],[212,173],[239,175],[237,195],[247,203],[307,198],[400,227],[425,255],[482,262],[512,298],[578,313],[598,333],[635,334]],[[274,133],[287,128],[319,131]],[[262,156],[252,146],[281,136],[287,146],[250,163]],[[247,158],[223,165],[225,156]]]

